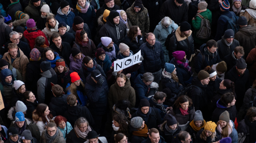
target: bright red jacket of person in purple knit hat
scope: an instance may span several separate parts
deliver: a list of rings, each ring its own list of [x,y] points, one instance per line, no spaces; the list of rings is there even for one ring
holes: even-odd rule
[[[35,39],[38,36],[43,36],[45,38],[45,44],[47,46],[49,46],[49,42],[47,40],[47,37],[45,36],[45,34],[39,30],[39,29],[35,29],[35,30],[26,30],[24,31],[24,36],[27,39],[28,44],[30,45],[30,49],[33,49],[35,47]]]

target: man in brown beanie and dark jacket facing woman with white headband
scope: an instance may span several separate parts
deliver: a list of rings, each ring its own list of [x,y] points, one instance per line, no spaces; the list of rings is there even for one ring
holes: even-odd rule
[[[192,87],[189,89],[187,95],[192,99],[195,111],[202,111],[207,116],[207,94],[206,87],[210,81],[210,75],[205,70],[201,70],[197,77],[193,78]],[[206,114],[204,114],[206,113]]]

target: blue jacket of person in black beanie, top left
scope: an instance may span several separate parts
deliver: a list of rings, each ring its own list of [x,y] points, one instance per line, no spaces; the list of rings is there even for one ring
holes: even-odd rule
[[[75,14],[71,11],[71,8],[69,8],[67,15],[62,13],[61,8],[58,9],[57,15],[55,16],[55,19],[60,22],[65,22],[70,28],[73,26],[73,21],[75,18]]]

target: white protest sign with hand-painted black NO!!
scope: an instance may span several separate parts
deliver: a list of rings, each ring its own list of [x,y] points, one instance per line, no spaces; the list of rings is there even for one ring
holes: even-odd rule
[[[130,57],[126,57],[126,58],[121,59],[121,60],[114,61],[114,71],[123,70],[123,69],[128,68],[132,65],[140,63],[141,62],[140,57],[141,57],[141,53],[139,51],[135,55],[132,55]]]

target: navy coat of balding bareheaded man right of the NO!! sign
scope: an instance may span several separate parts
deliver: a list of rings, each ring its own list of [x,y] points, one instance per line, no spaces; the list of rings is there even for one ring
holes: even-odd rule
[[[140,46],[141,56],[144,58],[140,65],[140,73],[155,73],[161,68],[164,68],[164,51],[162,44],[156,41],[154,47],[150,46],[148,42]]]

